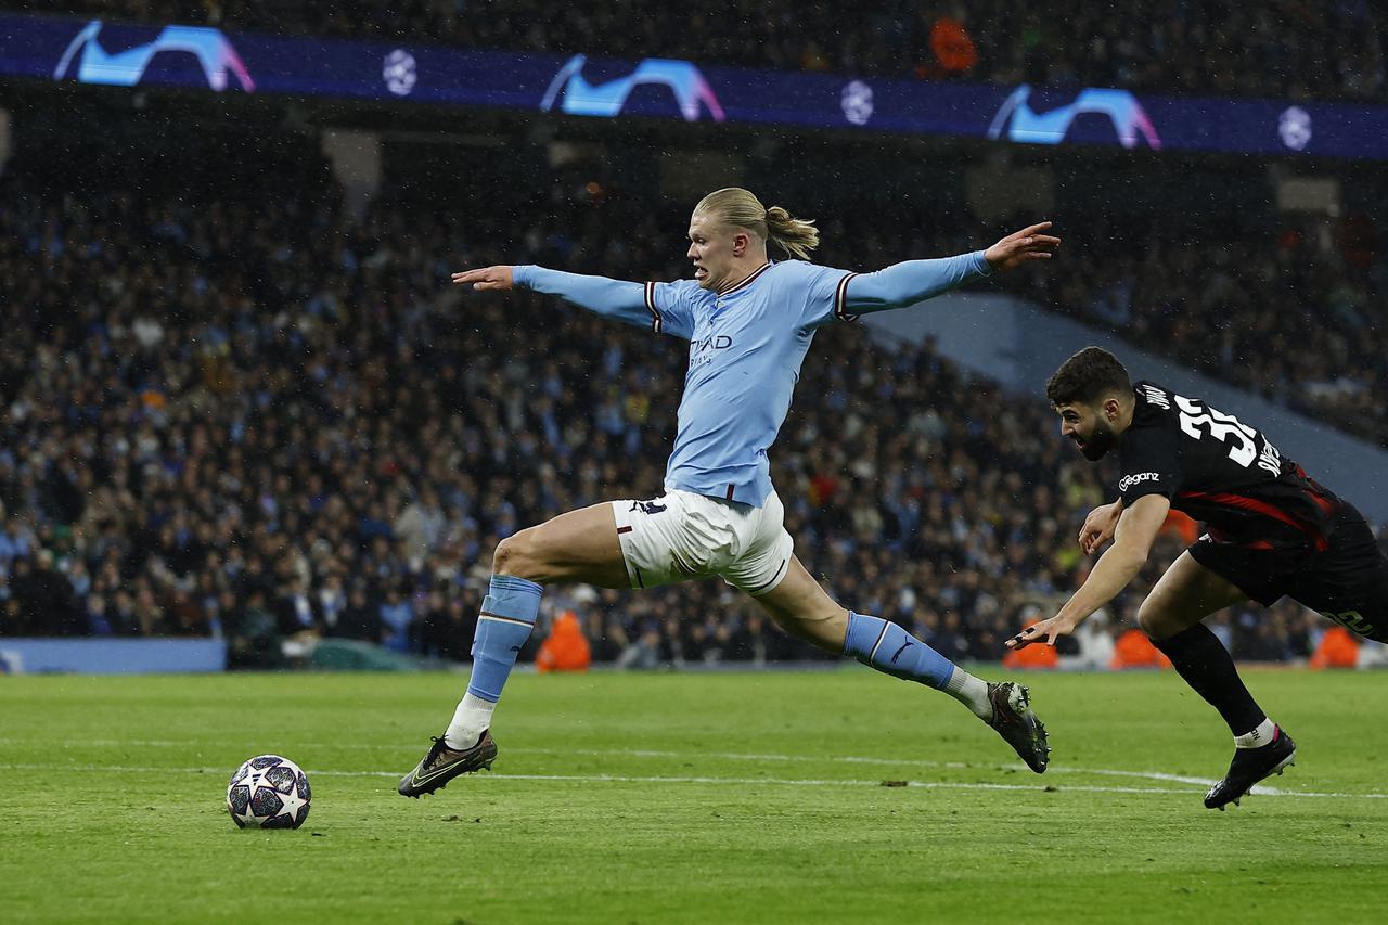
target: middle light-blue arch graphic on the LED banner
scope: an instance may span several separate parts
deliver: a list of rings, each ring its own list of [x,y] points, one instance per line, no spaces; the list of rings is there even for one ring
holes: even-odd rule
[[[701,106],[715,122],[723,121],[723,106],[713,88],[690,61],[645,58],[632,74],[607,83],[589,83],[583,76],[584,64],[587,57],[575,54],[559,68],[540,101],[541,110],[548,112],[558,100],[561,112],[609,119],[622,114],[632,90],[643,83],[655,83],[670,89],[686,122],[698,122]]]

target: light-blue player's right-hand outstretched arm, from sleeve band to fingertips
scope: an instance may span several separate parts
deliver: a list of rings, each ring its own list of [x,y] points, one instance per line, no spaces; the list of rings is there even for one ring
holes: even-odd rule
[[[1013,232],[987,250],[938,260],[908,260],[874,274],[852,276],[844,290],[847,311],[865,314],[904,308],[969,282],[1008,271],[1033,260],[1049,260],[1060,239],[1042,232],[1041,222]]]

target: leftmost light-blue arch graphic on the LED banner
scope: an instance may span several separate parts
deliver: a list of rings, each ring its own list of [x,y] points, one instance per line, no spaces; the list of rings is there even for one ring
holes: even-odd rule
[[[135,86],[144,78],[144,72],[149,69],[154,56],[165,51],[183,51],[197,58],[198,65],[203,68],[203,76],[207,78],[207,86],[218,93],[226,89],[228,72],[236,75],[242,89],[247,93],[255,89],[255,82],[251,81],[242,56],[236,53],[236,49],[232,47],[232,43],[228,42],[221,29],[178,25],[164,26],[153,42],[146,42],[144,44],[137,44],[133,49],[114,54],[107,53],[101,47],[100,32],[100,19],[93,19],[82,32],[78,32],[76,38],[68,43],[67,51],[62,53],[58,67],[53,69],[54,81],[61,81],[67,76],[68,68],[72,65],[72,58],[78,51],[82,53],[82,57],[78,58],[76,79],[81,83],[100,83],[105,86]]]

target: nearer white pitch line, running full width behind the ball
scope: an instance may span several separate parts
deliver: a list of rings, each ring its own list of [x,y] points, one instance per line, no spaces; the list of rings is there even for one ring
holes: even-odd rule
[[[208,775],[222,775],[226,772],[225,768],[160,768],[160,767],[140,767],[140,765],[100,765],[100,764],[0,764],[0,771],[81,771],[87,774],[94,772],[112,772],[112,774],[208,774]],[[397,778],[398,771],[308,771],[310,776],[325,776],[325,778]],[[787,778],[708,778],[708,776],[662,776],[662,775],[616,775],[616,774],[479,774],[472,778],[473,781],[551,781],[561,783],[722,783],[722,785],[737,785],[737,786],[751,786],[751,785],[770,785],[770,786],[798,786],[798,788],[831,788],[831,786],[858,786],[858,788],[880,788],[884,786],[881,781],[826,781],[826,779],[787,779]],[[1183,782],[1178,778],[1174,782]],[[897,785],[901,786],[901,785]],[[1058,793],[1124,793],[1124,794],[1180,794],[1190,796],[1196,793],[1196,790],[1185,789],[1171,789],[1171,788],[1124,788],[1124,786],[1091,786],[1091,785],[1066,785],[1063,788],[1056,788],[1053,785],[1044,783],[985,783],[985,782],[960,782],[960,781],[906,781],[906,788],[927,789],[927,790],[1026,790],[1026,792],[1058,792]],[[1312,799],[1330,799],[1330,800],[1381,800],[1388,799],[1388,793],[1319,793],[1307,790],[1276,790],[1266,788],[1264,793],[1255,793],[1255,796],[1283,796],[1283,797],[1312,797]]]

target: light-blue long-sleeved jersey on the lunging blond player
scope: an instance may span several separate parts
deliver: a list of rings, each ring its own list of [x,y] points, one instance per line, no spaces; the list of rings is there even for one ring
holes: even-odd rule
[[[768,262],[725,293],[691,279],[630,283],[516,267],[515,285],[690,342],[668,488],[761,507],[768,450],[790,411],[815,331],[899,308],[987,276],[983,251],[852,274],[801,260]]]

